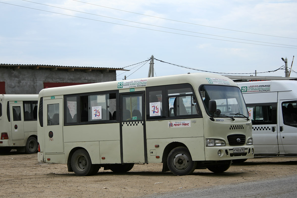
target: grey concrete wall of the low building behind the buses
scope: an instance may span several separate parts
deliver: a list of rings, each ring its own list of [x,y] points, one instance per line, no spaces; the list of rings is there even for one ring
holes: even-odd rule
[[[6,94],[38,94],[44,82],[51,83],[99,83],[116,80],[116,70],[84,72],[74,70],[50,71],[48,69],[0,68],[0,81],[5,82]]]

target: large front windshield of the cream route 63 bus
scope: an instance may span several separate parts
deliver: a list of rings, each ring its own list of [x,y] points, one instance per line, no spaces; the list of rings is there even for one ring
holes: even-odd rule
[[[238,87],[202,85],[200,87],[200,95],[208,114],[210,114],[208,102],[209,100],[215,100],[217,102],[217,109],[221,110],[221,114],[232,117],[249,116],[243,96]]]

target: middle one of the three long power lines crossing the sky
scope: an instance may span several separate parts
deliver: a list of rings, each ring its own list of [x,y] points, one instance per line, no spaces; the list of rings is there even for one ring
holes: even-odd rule
[[[27,1],[27,0],[22,0],[22,1],[30,2],[30,3],[34,3],[34,4],[45,5],[45,6],[50,6],[50,7],[55,7],[55,8],[59,8],[59,9],[65,9],[65,10],[74,11],[74,12],[80,12],[80,13],[89,14],[89,15],[95,15],[95,16],[99,16],[99,17],[105,17],[105,18],[122,20],[122,21],[127,21],[127,22],[132,22],[132,23],[138,23],[138,24],[142,24],[142,25],[154,26],[154,27],[159,27],[159,28],[167,28],[167,29],[172,29],[172,30],[185,31],[185,32],[190,32],[190,33],[195,33],[195,34],[204,34],[204,35],[208,35],[208,36],[222,37],[222,38],[228,38],[228,39],[237,39],[237,40],[244,40],[244,41],[251,41],[251,42],[260,42],[260,43],[267,43],[267,44],[273,44],[273,45],[286,45],[286,44],[279,44],[279,43],[254,41],[254,40],[249,40],[249,39],[238,39],[238,38],[234,38],[234,37],[224,37],[224,36],[219,36],[219,35],[214,35],[214,34],[205,34],[205,33],[201,33],[201,32],[187,31],[187,30],[181,30],[181,29],[176,29],[176,28],[169,28],[169,27],[164,27],[164,26],[157,26],[157,25],[151,25],[151,24],[147,24],[147,23],[140,23],[140,22],[135,22],[135,21],[130,21],[130,20],[113,18],[113,17],[103,16],[103,15],[97,15],[97,14],[92,14],[92,13],[89,13],[89,12],[81,12],[81,11],[78,11],[78,10],[67,9],[67,8],[62,8],[62,7],[57,7],[57,6],[51,6],[51,5],[41,4],[41,3],[37,3],[37,2],[33,2],[33,1]],[[297,47],[297,45],[286,45],[286,46]]]

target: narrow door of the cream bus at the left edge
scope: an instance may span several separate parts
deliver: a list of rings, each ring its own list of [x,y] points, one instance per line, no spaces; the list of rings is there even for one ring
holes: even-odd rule
[[[15,101],[10,103],[11,140],[24,139],[23,103]]]

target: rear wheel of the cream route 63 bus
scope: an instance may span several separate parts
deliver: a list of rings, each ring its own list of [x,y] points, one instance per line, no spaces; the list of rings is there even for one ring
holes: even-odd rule
[[[84,149],[78,149],[73,153],[71,156],[71,167],[78,176],[94,175],[99,170],[99,166],[92,164],[89,153]]]

